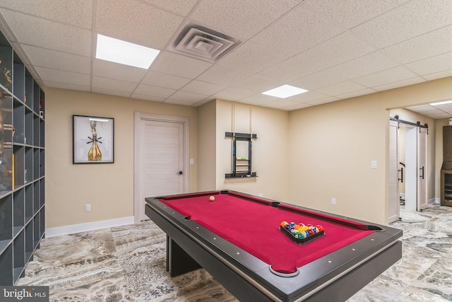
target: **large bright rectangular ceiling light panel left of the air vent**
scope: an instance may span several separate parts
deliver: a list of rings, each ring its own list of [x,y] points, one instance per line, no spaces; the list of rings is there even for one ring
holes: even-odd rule
[[[160,50],[97,35],[96,59],[148,69]]]

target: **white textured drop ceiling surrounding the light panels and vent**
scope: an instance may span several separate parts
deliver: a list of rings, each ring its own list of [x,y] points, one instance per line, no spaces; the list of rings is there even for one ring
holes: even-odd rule
[[[215,63],[170,51],[188,22],[242,44]],[[42,86],[189,106],[296,110],[452,76],[451,0],[1,0],[0,28]],[[149,70],[105,62],[97,33],[161,52]],[[309,92],[261,94],[283,84]]]

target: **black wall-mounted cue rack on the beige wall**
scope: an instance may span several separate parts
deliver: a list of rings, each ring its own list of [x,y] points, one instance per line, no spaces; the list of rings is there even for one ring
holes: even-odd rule
[[[256,172],[251,171],[253,139],[257,134],[226,132],[225,137],[232,138],[232,173],[226,173],[225,178],[255,178]],[[237,157],[237,141],[248,144],[248,157]]]

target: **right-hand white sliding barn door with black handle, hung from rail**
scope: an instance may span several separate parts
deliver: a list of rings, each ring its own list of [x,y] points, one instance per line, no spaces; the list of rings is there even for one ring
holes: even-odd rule
[[[417,211],[427,207],[427,129],[417,132]]]

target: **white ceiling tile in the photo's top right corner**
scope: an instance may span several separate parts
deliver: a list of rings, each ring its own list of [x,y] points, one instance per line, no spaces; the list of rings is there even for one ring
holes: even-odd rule
[[[353,28],[379,48],[388,47],[452,23],[449,0],[413,0]]]

